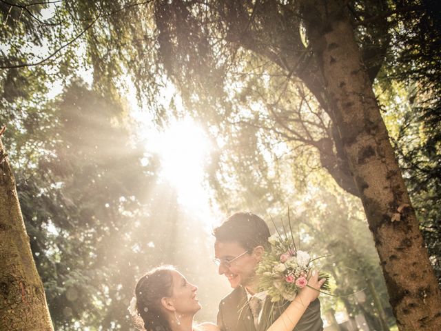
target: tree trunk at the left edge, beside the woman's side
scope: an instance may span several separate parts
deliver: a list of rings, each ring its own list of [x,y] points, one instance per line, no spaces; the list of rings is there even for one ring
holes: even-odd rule
[[[53,330],[5,154],[0,139],[0,330]]]

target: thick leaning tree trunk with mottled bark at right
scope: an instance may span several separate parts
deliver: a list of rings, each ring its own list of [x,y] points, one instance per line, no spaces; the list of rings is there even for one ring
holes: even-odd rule
[[[438,282],[354,38],[346,1],[300,2],[398,327],[441,330]]]

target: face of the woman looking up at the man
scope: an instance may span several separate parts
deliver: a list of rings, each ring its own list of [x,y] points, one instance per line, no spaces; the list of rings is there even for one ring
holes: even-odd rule
[[[196,298],[196,290],[198,288],[185,279],[181,272],[172,271],[173,276],[173,294],[172,301],[176,314],[195,314],[201,309],[198,299]]]

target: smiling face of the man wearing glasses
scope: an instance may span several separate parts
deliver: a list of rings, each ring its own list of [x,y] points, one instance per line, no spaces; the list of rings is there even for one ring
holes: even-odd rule
[[[214,254],[219,259],[219,274],[224,274],[227,277],[232,288],[237,288],[238,285],[251,285],[252,279],[255,275],[254,269],[258,263],[255,255],[252,252],[243,254],[247,249],[243,248],[240,243],[221,242],[214,243]],[[240,254],[243,254],[240,256]],[[239,257],[240,256],[240,257]],[[232,261],[232,259],[238,257]],[[232,261],[228,263],[228,261]]]

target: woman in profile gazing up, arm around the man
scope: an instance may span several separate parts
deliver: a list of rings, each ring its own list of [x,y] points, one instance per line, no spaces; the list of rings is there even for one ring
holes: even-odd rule
[[[308,286],[302,288],[285,312],[267,331],[291,331],[307,309],[318,297],[318,290],[325,279],[318,280],[318,272],[312,272]],[[130,303],[130,314],[147,331],[219,331],[213,323],[195,325],[194,314],[201,309],[196,299],[198,288],[170,265],[147,272],[135,287],[135,297]],[[142,330],[142,329],[141,329]]]

